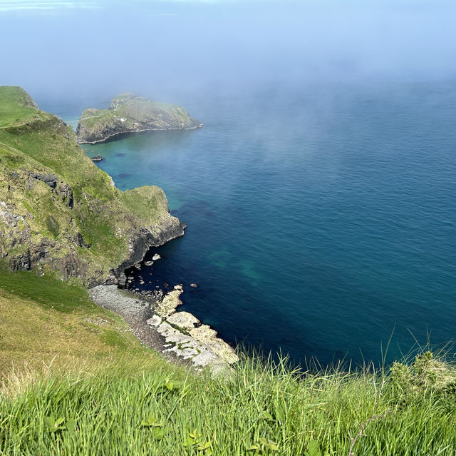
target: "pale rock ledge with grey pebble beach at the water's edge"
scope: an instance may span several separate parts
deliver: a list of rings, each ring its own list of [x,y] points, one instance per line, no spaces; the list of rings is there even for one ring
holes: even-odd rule
[[[116,285],[90,288],[90,298],[103,308],[122,315],[133,333],[148,347],[167,358],[182,360],[195,368],[209,367],[212,372],[224,372],[239,358],[217,332],[191,313],[178,312],[182,304],[182,285],[165,295],[161,302],[150,303]]]

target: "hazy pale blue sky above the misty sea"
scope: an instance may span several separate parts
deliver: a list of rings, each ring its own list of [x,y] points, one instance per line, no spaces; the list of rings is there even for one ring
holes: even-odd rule
[[[446,0],[0,0],[0,84],[39,96],[456,76]]]

